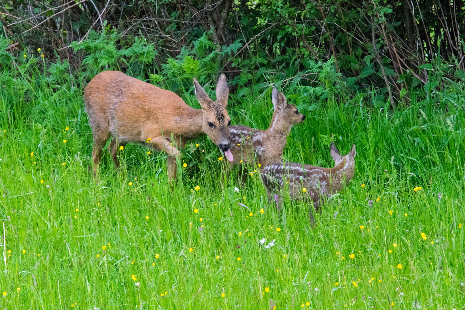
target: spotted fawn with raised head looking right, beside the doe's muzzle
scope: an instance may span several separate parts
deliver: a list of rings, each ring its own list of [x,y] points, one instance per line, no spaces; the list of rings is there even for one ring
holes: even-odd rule
[[[229,128],[230,150],[233,153],[231,167],[238,163],[249,162],[262,167],[282,160],[287,136],[292,125],[305,120],[295,106],[287,103],[286,96],[273,87],[272,103],[274,113],[267,130],[254,129],[242,125]]]

